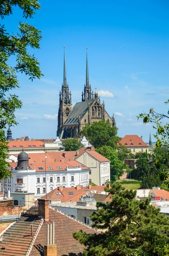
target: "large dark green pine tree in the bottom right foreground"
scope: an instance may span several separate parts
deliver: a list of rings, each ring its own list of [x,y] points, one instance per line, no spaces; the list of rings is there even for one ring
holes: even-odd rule
[[[87,246],[84,255],[169,255],[169,218],[149,205],[150,198],[135,200],[136,191],[124,190],[116,182],[107,191],[112,194],[112,201],[97,203],[97,212],[90,216],[93,226],[103,232],[73,233],[75,239]]]

